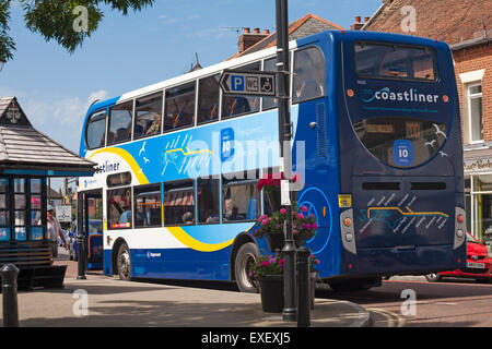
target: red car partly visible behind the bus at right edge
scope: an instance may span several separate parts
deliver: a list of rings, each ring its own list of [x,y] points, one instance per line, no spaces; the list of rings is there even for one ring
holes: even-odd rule
[[[492,280],[491,253],[484,244],[467,232],[467,267],[425,275],[430,282],[440,281],[443,277],[471,278],[480,282],[490,282]]]

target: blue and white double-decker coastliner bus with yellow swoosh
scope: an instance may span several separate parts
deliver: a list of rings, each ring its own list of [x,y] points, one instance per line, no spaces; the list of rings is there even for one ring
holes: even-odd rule
[[[307,246],[333,289],[466,263],[462,147],[446,44],[324,32],[290,43],[296,193],[319,229]],[[224,70],[274,71],[274,48],[95,103],[79,192],[102,207],[103,268],[130,278],[234,280],[268,244],[277,207],[258,180],[279,171],[272,97],[230,96]],[[95,210],[93,210],[95,212]]]

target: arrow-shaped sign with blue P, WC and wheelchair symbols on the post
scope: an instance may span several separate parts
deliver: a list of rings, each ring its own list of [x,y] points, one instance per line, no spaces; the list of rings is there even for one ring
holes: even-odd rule
[[[274,97],[276,73],[245,72],[226,70],[222,73],[220,85],[227,95],[255,95]]]

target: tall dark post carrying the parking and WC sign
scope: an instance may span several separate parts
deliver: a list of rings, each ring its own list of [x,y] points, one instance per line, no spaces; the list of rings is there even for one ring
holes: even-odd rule
[[[279,141],[281,167],[285,173],[285,181],[282,180],[281,193],[282,205],[286,208],[285,215],[285,245],[284,253],[284,309],[282,318],[284,321],[295,321],[297,309],[295,304],[295,244],[292,234],[292,192],[290,180],[292,178],[292,124],[289,108],[289,86],[290,86],[290,62],[289,62],[289,8],[288,0],[277,0],[277,65],[279,72]]]

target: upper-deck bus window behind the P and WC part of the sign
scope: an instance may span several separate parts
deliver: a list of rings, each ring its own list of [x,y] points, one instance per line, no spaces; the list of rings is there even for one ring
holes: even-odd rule
[[[253,63],[246,67],[237,69],[237,71],[249,71],[256,72],[260,71],[260,62]],[[237,96],[226,96],[222,98],[222,118],[233,118],[243,116],[246,113],[258,112],[260,97],[248,96],[248,95],[237,95]]]

